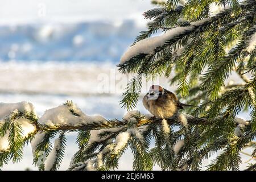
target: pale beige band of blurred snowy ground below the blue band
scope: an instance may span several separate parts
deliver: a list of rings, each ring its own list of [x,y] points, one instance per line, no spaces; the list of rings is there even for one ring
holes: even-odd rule
[[[118,72],[110,62],[0,61],[0,93],[121,94],[132,77]],[[143,83],[143,93],[154,83],[168,86],[165,78]]]

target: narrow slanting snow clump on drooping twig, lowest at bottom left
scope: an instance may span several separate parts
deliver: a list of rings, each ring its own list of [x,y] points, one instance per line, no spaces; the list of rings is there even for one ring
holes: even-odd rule
[[[54,142],[54,147],[52,148],[52,151],[50,152],[50,154],[48,155],[46,162],[44,163],[44,169],[46,171],[51,170],[51,168],[53,167],[53,164],[56,162],[56,158],[57,158],[57,150],[60,149],[60,139],[57,138],[55,139]]]

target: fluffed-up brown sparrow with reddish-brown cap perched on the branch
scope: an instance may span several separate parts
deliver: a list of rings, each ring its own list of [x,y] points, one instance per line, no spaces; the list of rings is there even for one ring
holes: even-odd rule
[[[150,87],[143,98],[143,105],[151,114],[160,119],[171,118],[184,106],[192,106],[181,103],[174,93],[159,85]]]

